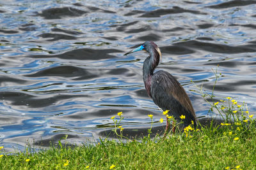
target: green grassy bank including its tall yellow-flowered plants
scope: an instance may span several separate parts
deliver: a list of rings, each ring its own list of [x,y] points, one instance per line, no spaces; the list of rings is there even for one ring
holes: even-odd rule
[[[214,86],[220,75],[217,69],[215,73]],[[256,121],[246,104],[231,97],[218,99],[213,90],[204,92],[204,97],[212,99],[207,101],[211,104],[209,111],[217,111],[223,123],[212,122],[200,128],[191,124],[184,131],[150,138],[154,123],[153,115],[148,115],[148,136],[131,140],[123,135],[125,129],[120,122],[124,117],[119,112],[111,118],[118,141],[105,139],[98,145],[76,147],[59,142],[59,147],[36,153],[28,148],[15,155],[4,155],[0,147],[0,169],[255,169]],[[169,117],[168,111],[163,115]]]

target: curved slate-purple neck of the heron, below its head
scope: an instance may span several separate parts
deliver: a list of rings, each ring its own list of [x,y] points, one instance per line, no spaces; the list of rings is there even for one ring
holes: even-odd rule
[[[159,63],[159,53],[158,52],[149,52],[150,56],[145,59],[143,63],[143,81],[145,89],[147,90],[148,96],[151,97],[150,87],[151,87],[151,77],[154,74]]]

